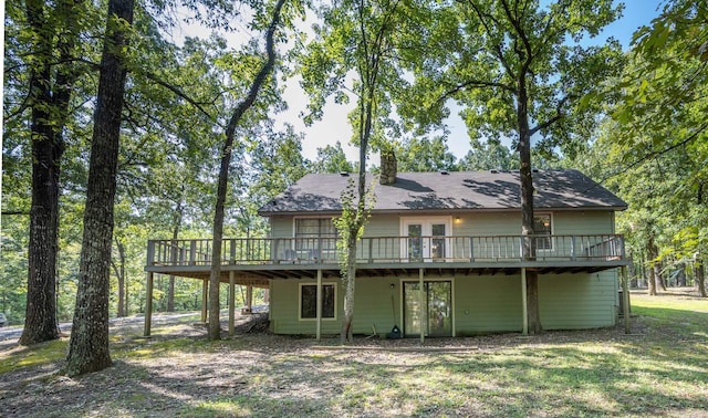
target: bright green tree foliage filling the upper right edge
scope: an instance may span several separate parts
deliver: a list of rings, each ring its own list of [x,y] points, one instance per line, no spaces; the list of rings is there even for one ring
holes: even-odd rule
[[[705,1],[674,0],[650,27],[635,32],[631,62],[618,83],[622,101],[612,109],[613,156],[621,166],[608,174],[670,168],[656,176],[657,188],[668,195],[652,200],[669,220],[662,228],[665,233],[656,237],[656,262],[698,265],[696,284],[702,296],[708,253],[707,23]],[[649,241],[646,245],[653,247]]]

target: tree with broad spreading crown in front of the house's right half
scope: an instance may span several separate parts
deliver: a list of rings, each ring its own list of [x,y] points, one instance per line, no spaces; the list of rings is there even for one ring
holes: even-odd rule
[[[531,142],[552,148],[589,137],[603,81],[618,70],[620,45],[582,46],[620,14],[612,1],[466,0],[438,8],[436,24],[421,40],[427,53],[412,52],[416,76],[408,114],[424,122],[447,114],[454,98],[472,139],[513,138],[519,151],[521,233],[524,257],[533,259]],[[410,104],[423,108],[410,109]],[[531,333],[542,331],[538,273],[529,271],[527,295]]]

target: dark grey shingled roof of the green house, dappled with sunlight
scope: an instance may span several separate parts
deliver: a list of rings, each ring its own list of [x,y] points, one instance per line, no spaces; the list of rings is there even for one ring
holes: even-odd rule
[[[336,213],[340,196],[356,175],[310,174],[266,203],[259,213]],[[534,209],[624,210],[627,203],[577,170],[534,170]],[[366,176],[371,184],[375,177]],[[518,170],[399,173],[393,185],[374,186],[373,212],[520,210]]]

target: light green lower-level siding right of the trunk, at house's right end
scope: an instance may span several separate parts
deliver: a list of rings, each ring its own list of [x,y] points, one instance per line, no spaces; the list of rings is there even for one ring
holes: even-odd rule
[[[544,330],[614,326],[617,272],[548,274],[539,278],[539,311]]]

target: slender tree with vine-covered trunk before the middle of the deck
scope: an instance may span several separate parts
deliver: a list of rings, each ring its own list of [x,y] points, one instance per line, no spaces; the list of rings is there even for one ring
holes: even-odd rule
[[[350,114],[354,127],[353,143],[358,146],[358,175],[342,194],[342,213],[335,219],[341,276],[344,284],[344,315],[341,341],[352,341],[356,280],[356,243],[364,233],[371,210],[366,188],[366,158],[371,147],[386,148],[385,129],[392,127],[389,93],[400,83],[396,67],[395,34],[406,33],[404,9],[413,4],[398,0],[352,0],[322,7],[323,22],[315,27],[315,40],[308,45],[301,64],[302,85],[311,98],[312,114],[322,116],[330,95],[336,103],[348,102],[346,92],[356,97]],[[347,76],[353,73],[353,85]]]

